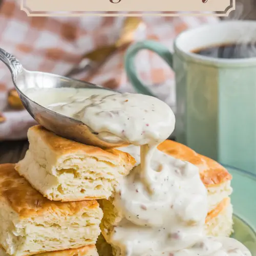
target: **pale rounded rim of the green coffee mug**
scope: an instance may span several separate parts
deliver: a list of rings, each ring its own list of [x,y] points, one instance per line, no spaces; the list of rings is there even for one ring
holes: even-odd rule
[[[200,62],[204,63],[204,65],[210,65],[210,66],[232,66],[232,67],[241,67],[241,66],[256,66],[256,57],[249,57],[249,58],[216,58],[216,57],[210,57],[210,56],[203,56],[194,52],[184,51],[178,46],[178,40],[181,38],[181,36],[184,36],[188,32],[197,31],[203,28],[212,28],[212,27],[218,27],[221,26],[221,24],[232,24],[232,26],[236,26],[237,24],[248,24],[248,26],[251,26],[251,24],[254,24],[255,30],[256,30],[256,21],[255,20],[225,20],[220,21],[216,24],[206,24],[199,26],[197,28],[193,29],[187,29],[183,32],[181,32],[174,40],[174,52],[187,59],[188,61],[193,62]]]

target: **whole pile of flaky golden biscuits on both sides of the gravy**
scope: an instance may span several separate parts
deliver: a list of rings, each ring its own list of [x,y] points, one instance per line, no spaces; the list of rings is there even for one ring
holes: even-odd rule
[[[103,150],[61,138],[40,125],[29,129],[28,138],[23,160],[0,165],[0,256],[112,255],[106,241],[120,221],[112,197],[138,156],[123,148]],[[206,233],[229,236],[232,189],[227,170],[174,141],[166,140],[159,150],[199,167],[208,190]]]

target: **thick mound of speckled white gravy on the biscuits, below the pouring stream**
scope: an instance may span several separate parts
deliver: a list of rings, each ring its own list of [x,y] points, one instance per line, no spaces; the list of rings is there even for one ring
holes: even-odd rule
[[[153,193],[144,188],[138,165],[115,195],[113,204],[123,219],[111,240],[121,255],[174,252],[203,238],[207,193],[198,168],[158,150],[151,167]]]

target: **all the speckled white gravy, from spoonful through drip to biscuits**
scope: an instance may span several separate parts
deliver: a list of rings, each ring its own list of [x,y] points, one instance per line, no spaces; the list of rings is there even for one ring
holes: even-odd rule
[[[175,117],[167,104],[140,94],[80,90],[55,93],[44,106],[80,119],[102,139],[137,146],[121,148],[138,164],[114,195],[122,220],[109,242],[117,255],[251,255],[236,240],[205,236],[207,191],[198,168],[157,150],[174,131]],[[38,94],[30,97],[37,101]]]

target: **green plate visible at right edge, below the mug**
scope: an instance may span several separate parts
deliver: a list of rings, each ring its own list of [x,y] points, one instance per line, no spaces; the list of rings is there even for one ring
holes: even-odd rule
[[[256,175],[225,166],[233,176],[234,233],[232,237],[243,243],[256,256]]]

